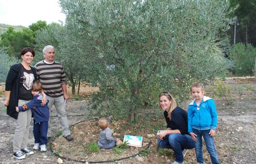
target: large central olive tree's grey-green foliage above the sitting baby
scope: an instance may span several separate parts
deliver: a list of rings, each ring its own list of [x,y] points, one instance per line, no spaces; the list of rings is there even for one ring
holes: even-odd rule
[[[92,41],[100,115],[136,119],[161,91],[181,101],[193,81],[225,72],[217,33],[230,20],[227,1],[61,0],[64,12]],[[97,60],[97,61],[96,61]],[[96,76],[95,76],[96,77]]]

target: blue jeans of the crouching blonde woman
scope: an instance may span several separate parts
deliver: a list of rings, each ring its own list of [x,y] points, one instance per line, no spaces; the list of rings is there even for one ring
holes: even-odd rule
[[[163,140],[157,141],[159,148],[172,149],[175,155],[176,162],[183,162],[182,150],[193,149],[195,142],[188,134],[168,134]]]

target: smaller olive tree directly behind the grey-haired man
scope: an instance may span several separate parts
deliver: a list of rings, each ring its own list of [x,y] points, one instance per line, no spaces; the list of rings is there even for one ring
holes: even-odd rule
[[[60,62],[66,72],[68,81],[72,86],[72,94],[75,94],[77,82],[81,79],[89,81],[86,67],[91,64],[91,60],[86,55],[89,52],[86,49],[85,38],[80,35],[81,30],[76,24],[76,18],[67,16],[65,26],[51,24],[48,29],[39,31],[36,34],[36,52],[40,54],[34,59],[34,63],[43,59],[42,49],[46,45],[52,45],[56,48],[56,57],[54,60]]]

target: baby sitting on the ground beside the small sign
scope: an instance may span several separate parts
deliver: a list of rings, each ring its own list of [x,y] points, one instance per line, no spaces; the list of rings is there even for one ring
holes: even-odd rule
[[[108,127],[109,121],[107,120],[107,118],[102,117],[98,122],[99,127],[101,128],[100,137],[97,142],[99,148],[103,148],[103,149],[114,148],[116,146],[116,142],[120,140],[119,138],[114,138],[112,136],[112,133],[114,131]]]

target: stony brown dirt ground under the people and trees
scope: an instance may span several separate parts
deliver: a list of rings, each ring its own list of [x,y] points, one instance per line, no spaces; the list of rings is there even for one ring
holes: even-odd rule
[[[255,163],[256,162],[256,81],[254,77],[246,78],[226,78],[224,84],[228,84],[231,88],[231,94],[228,97],[214,97],[218,112],[218,127],[215,136],[215,145],[221,163]],[[97,88],[85,86],[81,89],[83,95],[88,97],[91,92],[97,91]],[[1,86],[0,86],[1,92]],[[70,91],[69,91],[70,92]],[[207,93],[212,93],[207,87]],[[209,95],[207,96],[214,96]],[[1,102],[3,98],[0,98]],[[187,109],[187,104],[180,105]],[[87,110],[88,100],[70,99],[66,105],[66,111],[70,125],[85,120],[84,115],[90,114]],[[15,120],[6,115],[6,109],[3,103],[0,104],[0,163],[58,163],[56,155],[48,150],[44,153],[35,151],[31,156],[27,156],[23,160],[16,160],[12,157],[12,139],[15,130]],[[159,109],[151,109],[151,112],[159,113]],[[60,131],[60,124],[56,111],[51,112],[51,132],[56,135]],[[173,151],[160,149],[157,150],[156,137],[149,134],[155,134],[150,126],[144,123],[149,121],[151,126],[161,123],[163,116],[161,113],[155,114],[152,118],[147,118],[143,122],[137,122],[134,125],[126,126],[125,120],[114,121],[111,128],[114,135],[123,138],[124,134],[136,134],[143,136],[142,148],[129,147],[128,149],[100,150],[98,152],[90,152],[86,145],[98,139],[99,128],[97,127],[97,119],[84,121],[80,124],[70,127],[74,140],[66,141],[63,137],[54,140],[54,152],[61,156],[84,160],[84,161],[101,161],[112,160],[127,157],[138,153],[145,147],[150,145],[149,149],[142,151],[136,157],[119,160],[108,163],[172,163],[174,160]],[[32,121],[28,140],[28,147],[33,146]],[[204,147],[205,163],[211,163],[210,157]],[[64,158],[63,163],[82,163]],[[196,163],[194,150],[189,150],[185,156],[186,163]]]

